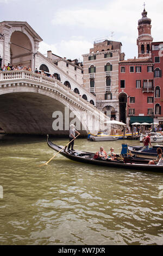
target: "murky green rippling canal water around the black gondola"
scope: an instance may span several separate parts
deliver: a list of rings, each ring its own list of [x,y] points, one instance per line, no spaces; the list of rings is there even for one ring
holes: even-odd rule
[[[74,148],[120,153],[129,142],[76,139]],[[163,244],[163,173],[87,166],[61,155],[40,167],[54,155],[46,137],[1,136],[0,154],[0,245]]]

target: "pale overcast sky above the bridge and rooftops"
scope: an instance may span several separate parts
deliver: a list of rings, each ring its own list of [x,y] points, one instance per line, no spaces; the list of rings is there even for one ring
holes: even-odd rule
[[[27,21],[41,36],[39,51],[66,58],[89,53],[95,39],[106,36],[122,42],[127,58],[137,57],[137,21],[142,0],[0,0],[0,21]],[[163,41],[162,0],[146,0],[153,41]]]

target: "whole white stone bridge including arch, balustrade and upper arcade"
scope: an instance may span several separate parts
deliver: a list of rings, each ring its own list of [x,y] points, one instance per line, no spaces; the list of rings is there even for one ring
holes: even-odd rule
[[[71,122],[82,135],[98,131],[99,125],[104,129],[106,116],[96,108],[96,97],[83,88],[81,70],[72,76],[59,68],[38,51],[41,41],[27,22],[0,22],[2,68],[10,63],[32,70],[0,71],[1,129],[10,134],[58,136],[68,133]],[[36,74],[42,66],[60,79]]]

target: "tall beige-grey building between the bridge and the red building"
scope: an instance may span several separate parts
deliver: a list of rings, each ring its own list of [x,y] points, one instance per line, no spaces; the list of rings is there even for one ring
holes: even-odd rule
[[[90,52],[83,54],[83,86],[96,95],[96,107],[110,112],[119,120],[118,62],[124,59],[121,42],[95,41]]]

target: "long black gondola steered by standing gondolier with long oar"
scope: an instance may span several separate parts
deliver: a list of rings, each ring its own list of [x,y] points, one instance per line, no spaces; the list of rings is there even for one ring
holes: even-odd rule
[[[47,144],[51,149],[57,152],[62,149],[62,146],[52,143],[49,140],[48,135],[47,135]],[[134,162],[134,159],[133,160],[131,159],[130,162],[129,161],[126,162],[122,160],[120,161],[95,160],[93,159],[93,156],[95,155],[95,153],[78,151],[78,150],[67,152],[67,150],[65,149],[62,149],[60,151],[60,154],[70,160],[82,162],[86,164],[95,164],[98,166],[105,166],[105,167],[125,168],[125,169],[133,169],[133,170],[152,171],[152,172],[163,172],[163,166],[159,166],[156,164],[148,165],[147,160],[143,161],[143,160],[136,159],[135,162]]]

